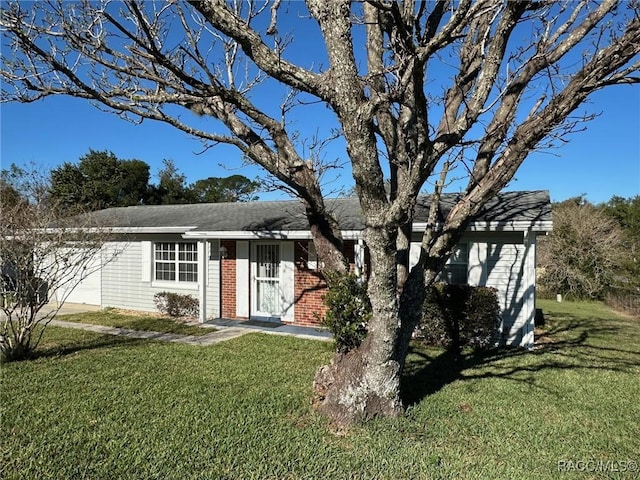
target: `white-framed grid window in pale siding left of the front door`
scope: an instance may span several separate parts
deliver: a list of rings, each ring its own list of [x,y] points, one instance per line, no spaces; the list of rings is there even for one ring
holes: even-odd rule
[[[154,244],[154,278],[162,282],[198,281],[198,245],[192,242]]]

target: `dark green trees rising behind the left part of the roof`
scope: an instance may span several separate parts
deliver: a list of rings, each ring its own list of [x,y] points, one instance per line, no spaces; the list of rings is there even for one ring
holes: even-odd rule
[[[142,160],[89,150],[78,163],[65,162],[51,171],[48,195],[63,213],[75,213],[131,205],[246,202],[257,200],[260,188],[242,175],[188,184],[172,160],[163,160],[158,183],[150,178],[150,167]]]

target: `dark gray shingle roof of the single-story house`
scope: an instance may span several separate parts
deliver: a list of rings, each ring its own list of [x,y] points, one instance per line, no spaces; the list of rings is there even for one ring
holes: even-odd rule
[[[457,194],[444,194],[440,202],[442,220],[455,205]],[[420,197],[415,222],[426,222],[429,196]],[[362,230],[364,222],[355,197],[327,200],[327,207],[342,230]],[[191,205],[144,205],[93,212],[92,224],[114,228],[178,228],[192,232],[305,231],[309,224],[298,200],[246,203],[200,203]],[[503,192],[489,201],[476,216],[480,222],[545,222],[551,220],[547,191]],[[95,223],[94,223],[95,222]]]

